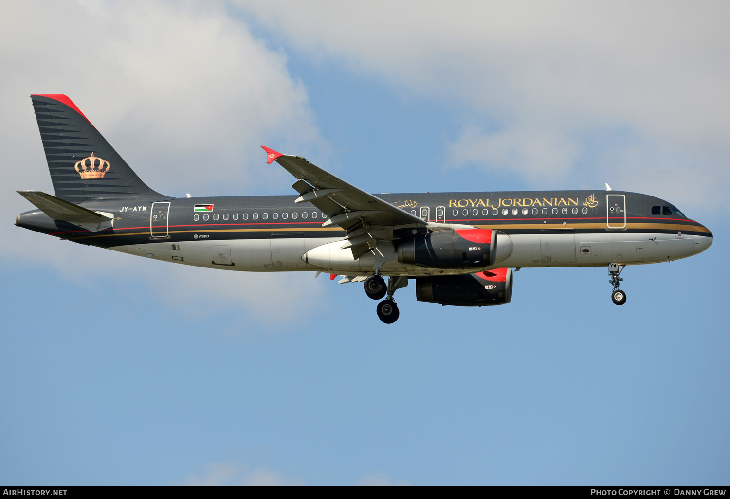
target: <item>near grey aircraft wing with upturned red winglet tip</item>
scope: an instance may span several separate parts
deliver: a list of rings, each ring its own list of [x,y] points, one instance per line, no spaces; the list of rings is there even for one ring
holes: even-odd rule
[[[298,182],[295,203],[310,202],[329,217],[323,227],[339,225],[347,232],[342,249],[351,248],[359,258],[375,246],[376,239],[393,239],[396,228],[426,228],[429,223],[388,201],[366,193],[301,156],[284,155],[269,147],[266,163],[276,160]]]

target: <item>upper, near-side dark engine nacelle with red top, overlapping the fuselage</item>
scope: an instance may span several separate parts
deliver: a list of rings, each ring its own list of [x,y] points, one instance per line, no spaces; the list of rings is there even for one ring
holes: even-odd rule
[[[398,261],[432,268],[484,268],[512,254],[507,234],[489,229],[456,229],[414,236],[398,244]],[[502,242],[504,240],[504,242]]]

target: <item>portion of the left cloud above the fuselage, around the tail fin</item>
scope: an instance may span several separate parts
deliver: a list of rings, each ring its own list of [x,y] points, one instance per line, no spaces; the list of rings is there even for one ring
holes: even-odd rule
[[[218,2],[20,2],[4,11],[0,47],[12,164],[44,164],[28,134],[30,93],[69,95],[147,184],[174,195],[271,182],[279,172],[258,147],[267,138],[327,149],[285,56]],[[26,170],[9,180],[41,172]]]

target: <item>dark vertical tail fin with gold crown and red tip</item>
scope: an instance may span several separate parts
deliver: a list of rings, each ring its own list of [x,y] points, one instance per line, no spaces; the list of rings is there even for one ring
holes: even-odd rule
[[[79,204],[164,197],[137,177],[70,98],[53,93],[31,100],[57,198]]]

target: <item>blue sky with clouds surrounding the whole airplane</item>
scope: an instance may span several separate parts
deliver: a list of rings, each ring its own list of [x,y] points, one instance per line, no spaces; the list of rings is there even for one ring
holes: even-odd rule
[[[730,4],[57,1],[0,18],[0,482],[723,485]],[[65,93],[170,196],[629,190],[715,236],[523,268],[512,303],[175,266],[15,227]],[[233,274],[233,275],[229,275]]]

